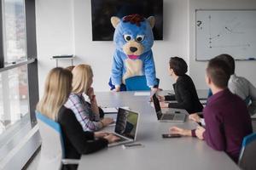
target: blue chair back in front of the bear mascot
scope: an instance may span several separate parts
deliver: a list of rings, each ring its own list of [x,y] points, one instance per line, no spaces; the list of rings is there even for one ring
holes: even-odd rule
[[[157,78],[158,88],[160,80]],[[145,76],[130,77],[125,79],[125,86],[127,91],[148,91],[150,88],[147,86],[147,80]]]

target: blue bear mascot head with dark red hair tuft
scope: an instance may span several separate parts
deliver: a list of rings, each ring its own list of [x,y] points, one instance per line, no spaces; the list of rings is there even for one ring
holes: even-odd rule
[[[113,42],[116,48],[126,54],[129,59],[138,59],[141,54],[152,48],[154,43],[153,16],[145,19],[139,14],[131,14],[121,20],[113,16],[111,23],[115,28]]]

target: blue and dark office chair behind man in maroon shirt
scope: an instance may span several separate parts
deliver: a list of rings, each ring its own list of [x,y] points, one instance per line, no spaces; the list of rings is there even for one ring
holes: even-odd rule
[[[247,135],[242,140],[238,165],[243,170],[256,169],[256,133]]]

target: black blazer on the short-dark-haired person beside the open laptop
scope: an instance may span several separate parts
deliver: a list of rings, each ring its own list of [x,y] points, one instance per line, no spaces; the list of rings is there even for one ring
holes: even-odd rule
[[[201,112],[203,106],[198,99],[195,85],[188,75],[179,76],[173,84],[175,95],[165,96],[166,100],[177,100],[177,103],[170,103],[170,108],[185,109],[190,113]]]

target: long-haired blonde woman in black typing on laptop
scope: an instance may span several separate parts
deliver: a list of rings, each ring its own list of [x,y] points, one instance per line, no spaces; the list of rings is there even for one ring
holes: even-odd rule
[[[72,73],[62,68],[51,70],[46,78],[44,96],[37,111],[61,124],[65,158],[79,159],[81,154],[101,150],[118,140],[113,134],[84,132],[73,111],[64,107],[72,89]]]

